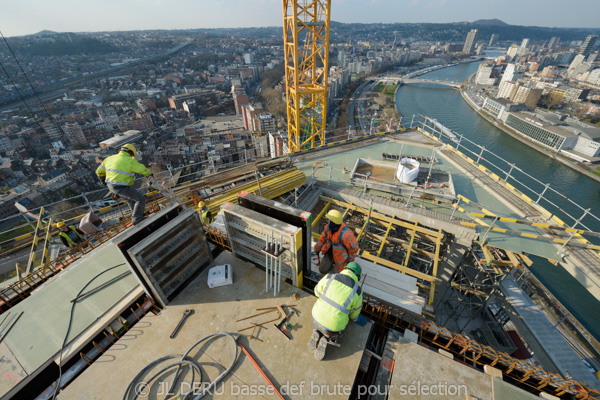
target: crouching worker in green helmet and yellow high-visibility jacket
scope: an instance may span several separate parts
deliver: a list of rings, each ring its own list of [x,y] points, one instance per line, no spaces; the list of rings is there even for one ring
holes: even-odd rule
[[[361,273],[360,265],[352,261],[342,272],[325,275],[315,286],[318,299],[312,310],[314,329],[308,341],[308,351],[315,359],[325,357],[327,344],[337,342],[349,320],[358,321],[362,309],[358,284]]]

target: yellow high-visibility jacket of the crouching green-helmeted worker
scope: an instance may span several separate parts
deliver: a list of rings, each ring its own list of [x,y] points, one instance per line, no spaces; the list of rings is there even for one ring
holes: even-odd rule
[[[313,306],[312,316],[332,332],[343,331],[350,319],[356,320],[360,315],[362,290],[350,270],[325,275],[315,286],[315,296],[319,299]]]

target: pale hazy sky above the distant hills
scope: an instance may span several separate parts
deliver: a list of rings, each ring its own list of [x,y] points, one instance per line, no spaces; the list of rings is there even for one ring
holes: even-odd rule
[[[299,0],[302,1],[302,0]],[[0,0],[0,31],[57,32],[281,26],[281,0]],[[339,22],[460,22],[600,28],[600,0],[332,0]]]

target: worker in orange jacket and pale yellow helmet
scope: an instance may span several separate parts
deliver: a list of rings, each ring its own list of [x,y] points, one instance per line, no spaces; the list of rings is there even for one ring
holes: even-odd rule
[[[325,218],[329,222],[315,244],[315,251],[323,253],[319,262],[319,272],[322,274],[328,272],[332,266],[342,271],[346,264],[354,261],[358,251],[354,233],[342,222],[342,213],[330,210]]]

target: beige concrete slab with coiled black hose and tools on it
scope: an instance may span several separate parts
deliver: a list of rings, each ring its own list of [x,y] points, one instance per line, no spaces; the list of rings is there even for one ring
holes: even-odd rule
[[[301,292],[298,301],[291,300],[292,292],[298,289],[285,282],[281,283],[278,296],[273,297],[272,292],[265,293],[264,272],[229,253],[221,253],[209,267],[225,263],[233,268],[232,285],[209,289],[206,284],[207,268],[161,314],[145,316],[78,377],[60,395],[60,399],[120,398],[130,380],[151,361],[167,354],[183,354],[206,335],[220,331],[236,332],[252,323],[276,318],[275,313],[270,313],[236,322],[257,313],[257,308],[278,304],[294,304],[294,309],[300,313],[291,317],[291,340],[269,323],[265,325],[266,329],[255,332],[263,342],[242,336],[238,343],[250,351],[277,387],[287,389],[290,393],[288,398],[348,398],[371,325],[361,327],[350,323],[341,340],[342,346],[330,346],[325,360],[317,362],[306,349],[312,333],[311,310],[315,298]],[[169,339],[185,309],[193,309],[195,314],[187,319],[174,339]],[[246,332],[250,334],[251,330]],[[190,355],[201,363],[207,377],[214,379],[223,371],[222,365],[229,365],[234,350],[229,339],[220,338],[210,345],[202,344]],[[171,382],[172,375],[166,376]],[[240,351],[233,371],[224,378],[214,397],[278,398],[272,392],[267,393],[267,387],[265,380]],[[159,395],[161,389],[164,386],[152,386],[156,397],[150,395],[148,398],[164,398]],[[295,395],[291,395],[292,390],[296,391]],[[205,398],[213,397],[208,395]]]

